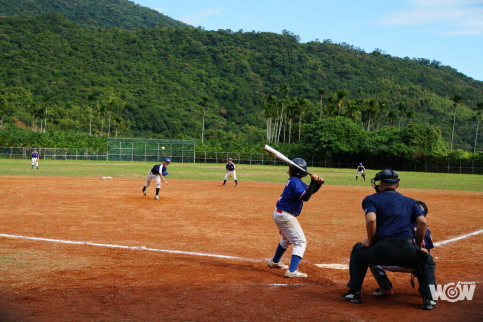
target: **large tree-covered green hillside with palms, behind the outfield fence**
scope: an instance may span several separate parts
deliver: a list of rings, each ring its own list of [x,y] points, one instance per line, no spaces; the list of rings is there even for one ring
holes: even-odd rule
[[[483,82],[437,61],[330,40],[300,44],[287,31],[86,29],[58,15],[0,18],[7,127],[39,129],[46,115],[47,129],[200,138],[205,113],[205,139],[273,141],[278,129],[275,141],[288,142],[303,137],[304,125],[341,115],[366,131],[438,126],[449,145],[456,113],[454,147],[470,150],[481,101]]]

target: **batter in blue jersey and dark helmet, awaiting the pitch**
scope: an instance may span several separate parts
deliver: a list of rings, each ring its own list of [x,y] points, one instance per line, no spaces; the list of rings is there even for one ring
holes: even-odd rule
[[[296,158],[292,161],[307,170],[307,163],[303,159]],[[307,173],[293,165],[289,166],[288,175],[290,178],[273,211],[273,221],[277,225],[282,239],[278,243],[275,255],[267,265],[271,268],[286,269],[285,277],[304,278],[307,277],[307,274],[299,272],[297,267],[305,252],[307,241],[297,217],[302,211],[303,201],[308,201],[312,194],[318,191],[324,183],[324,179],[314,173],[310,177],[310,185],[307,185],[302,181]],[[287,266],[280,262],[280,259],[290,245],[293,245],[293,251],[290,266]]]

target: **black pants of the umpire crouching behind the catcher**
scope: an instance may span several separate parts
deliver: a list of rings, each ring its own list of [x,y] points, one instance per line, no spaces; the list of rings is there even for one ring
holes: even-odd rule
[[[354,245],[351,252],[351,260],[349,263],[349,274],[351,279],[349,283],[347,283],[347,286],[349,286],[351,290],[360,290],[369,264],[397,265],[413,268],[416,252],[418,251],[419,250],[416,249],[416,245],[413,244],[411,238],[384,238],[371,247],[363,247],[362,243],[357,243]],[[434,263],[431,258],[431,260],[428,259],[428,264],[430,261]],[[434,283],[434,266],[432,266],[432,278],[428,275],[431,275],[431,273],[418,278],[418,282],[420,285],[420,293],[422,293],[421,295],[431,298],[428,284],[429,282]],[[426,294],[427,291],[429,294]]]

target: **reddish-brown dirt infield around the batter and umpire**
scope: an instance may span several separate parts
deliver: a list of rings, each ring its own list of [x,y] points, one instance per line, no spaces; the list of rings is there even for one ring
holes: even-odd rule
[[[483,234],[432,251],[439,284],[477,282],[471,301],[423,311],[400,273],[389,273],[397,297],[370,296],[368,274],[362,304],[340,299],[348,271],[313,264],[348,264],[365,238],[360,202],[369,183],[325,185],[304,205],[299,269],[309,277],[293,280],[265,264],[279,240],[271,213],[283,184],[169,182],[154,200],[152,186],[142,196],[143,179],[0,177],[0,234],[139,247],[0,237],[0,321],[483,320]],[[399,191],[428,204],[435,242],[483,229],[481,192]]]

